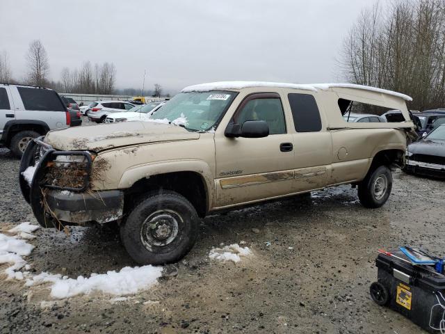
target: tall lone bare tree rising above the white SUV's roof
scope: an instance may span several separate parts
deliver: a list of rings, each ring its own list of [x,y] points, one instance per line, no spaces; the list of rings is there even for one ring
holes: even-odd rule
[[[45,51],[40,40],[33,40],[29,44],[26,60],[29,67],[29,82],[37,86],[44,86],[49,73],[49,63],[47,51]]]

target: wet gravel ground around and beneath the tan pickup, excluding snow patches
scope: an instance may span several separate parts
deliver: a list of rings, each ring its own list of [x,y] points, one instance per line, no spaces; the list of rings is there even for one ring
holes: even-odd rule
[[[19,161],[0,149],[0,166],[0,231],[35,223],[17,184]],[[209,216],[177,276],[121,302],[104,294],[53,301],[47,287],[0,276],[0,333],[426,333],[373,303],[369,285],[378,248],[412,244],[443,255],[444,203],[443,182],[395,173],[380,209],[339,186]],[[36,273],[76,278],[135,265],[110,230],[35,234],[26,260]],[[253,257],[209,260],[212,246],[241,240]]]

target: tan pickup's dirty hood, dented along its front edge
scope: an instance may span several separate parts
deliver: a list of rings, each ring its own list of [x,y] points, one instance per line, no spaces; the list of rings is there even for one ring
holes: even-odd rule
[[[200,138],[197,132],[161,122],[119,122],[90,127],[71,127],[48,132],[44,139],[57,150],[92,150],[162,141],[188,141]]]

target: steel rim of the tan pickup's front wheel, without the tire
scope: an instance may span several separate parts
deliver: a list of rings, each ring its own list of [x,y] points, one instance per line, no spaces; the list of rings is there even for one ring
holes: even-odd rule
[[[181,216],[170,209],[162,209],[150,214],[140,228],[140,240],[145,248],[162,247],[171,244],[178,235]]]

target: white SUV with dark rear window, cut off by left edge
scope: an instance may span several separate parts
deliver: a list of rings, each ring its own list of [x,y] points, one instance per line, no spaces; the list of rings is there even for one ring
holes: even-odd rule
[[[69,127],[70,112],[52,89],[0,84],[0,146],[22,157],[33,138]]]

